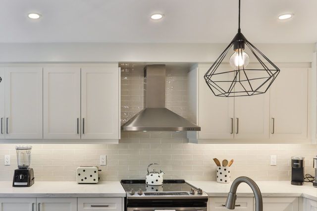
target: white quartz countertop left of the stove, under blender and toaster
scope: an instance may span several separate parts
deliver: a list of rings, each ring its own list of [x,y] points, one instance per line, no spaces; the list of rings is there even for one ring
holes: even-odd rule
[[[120,182],[77,184],[76,182],[35,182],[31,187],[12,187],[0,182],[0,197],[125,197]]]

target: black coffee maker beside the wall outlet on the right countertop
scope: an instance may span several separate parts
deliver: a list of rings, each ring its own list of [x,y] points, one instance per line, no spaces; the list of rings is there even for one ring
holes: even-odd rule
[[[305,158],[292,157],[292,185],[303,185],[305,177]]]

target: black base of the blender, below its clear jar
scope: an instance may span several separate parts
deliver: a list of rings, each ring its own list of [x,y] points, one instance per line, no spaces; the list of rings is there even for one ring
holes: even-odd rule
[[[34,184],[33,168],[15,169],[13,176],[13,187],[30,187]]]

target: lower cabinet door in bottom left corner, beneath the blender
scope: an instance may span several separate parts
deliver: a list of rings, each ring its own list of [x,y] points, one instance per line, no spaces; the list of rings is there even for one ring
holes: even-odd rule
[[[0,198],[0,211],[36,211],[36,198]]]

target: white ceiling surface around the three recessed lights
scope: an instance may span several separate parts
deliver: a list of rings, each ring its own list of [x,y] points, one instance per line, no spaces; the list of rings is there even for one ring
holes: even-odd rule
[[[238,0],[0,0],[0,42],[228,43]],[[253,43],[317,42],[317,0],[241,0]],[[29,12],[43,16],[27,18]],[[156,12],[159,21],[150,19]],[[294,13],[280,21],[279,14]]]

